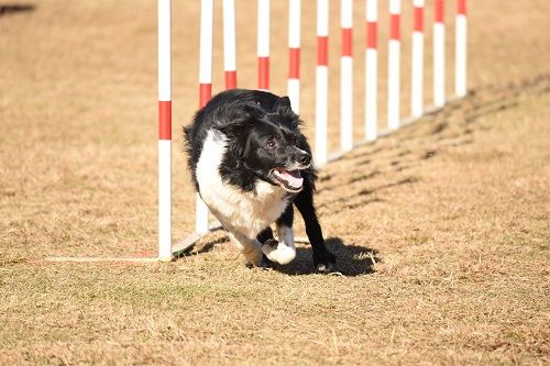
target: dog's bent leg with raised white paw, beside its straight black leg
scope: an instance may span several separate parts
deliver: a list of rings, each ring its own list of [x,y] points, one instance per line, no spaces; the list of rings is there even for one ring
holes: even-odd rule
[[[285,265],[296,257],[293,222],[294,209],[293,204],[288,204],[285,212],[276,221],[278,243],[266,241],[262,245],[262,251],[267,259]]]

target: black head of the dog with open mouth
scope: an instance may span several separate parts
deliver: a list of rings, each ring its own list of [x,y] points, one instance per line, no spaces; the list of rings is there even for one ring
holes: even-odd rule
[[[220,129],[229,140],[228,154],[256,178],[299,192],[304,185],[300,170],[311,167],[311,151],[299,130],[300,120],[288,97],[252,93],[233,104],[230,123]]]

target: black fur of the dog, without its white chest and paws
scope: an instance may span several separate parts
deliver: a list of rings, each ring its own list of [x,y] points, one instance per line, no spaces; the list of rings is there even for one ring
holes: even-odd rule
[[[200,192],[197,164],[208,132],[216,130],[227,136],[228,142],[218,174],[223,181],[238,187],[242,192],[254,192],[258,180],[273,186],[285,186],[274,176],[276,168],[299,170],[304,178],[301,190],[293,191],[293,187],[286,187],[287,195],[290,196],[288,201],[294,201],[304,218],[316,267],[320,271],[330,271],[334,269],[336,258],[324,245],[314,208],[317,171],[311,165],[311,148],[299,130],[300,124],[301,121],[293,112],[287,97],[279,98],[270,92],[244,89],[221,92],[196,113],[191,125],[184,129],[189,154],[188,166],[195,188]],[[216,214],[216,210],[212,212]],[[293,220],[293,204],[288,204],[276,221],[277,224],[292,228]],[[226,229],[231,231],[230,228]],[[260,243],[272,240],[271,228],[263,228],[256,239]]]

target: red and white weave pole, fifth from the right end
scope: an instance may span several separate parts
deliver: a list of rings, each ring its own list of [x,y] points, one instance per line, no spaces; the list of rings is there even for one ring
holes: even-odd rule
[[[366,0],[365,138],[377,137],[378,122],[378,0]]]

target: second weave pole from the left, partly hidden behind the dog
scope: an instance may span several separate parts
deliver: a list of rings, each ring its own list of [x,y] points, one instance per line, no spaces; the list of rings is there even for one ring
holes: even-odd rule
[[[213,0],[200,2],[199,108],[212,97]],[[195,231],[208,232],[208,207],[197,193]]]

